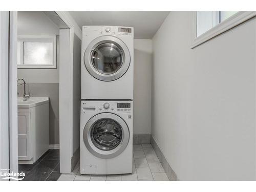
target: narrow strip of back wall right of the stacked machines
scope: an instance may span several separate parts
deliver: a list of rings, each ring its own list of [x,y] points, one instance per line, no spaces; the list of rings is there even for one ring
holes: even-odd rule
[[[134,134],[151,134],[152,40],[134,39]]]

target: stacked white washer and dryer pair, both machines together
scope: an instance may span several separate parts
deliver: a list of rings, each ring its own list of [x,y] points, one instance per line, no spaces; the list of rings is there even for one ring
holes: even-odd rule
[[[80,173],[133,170],[134,29],[82,27]]]

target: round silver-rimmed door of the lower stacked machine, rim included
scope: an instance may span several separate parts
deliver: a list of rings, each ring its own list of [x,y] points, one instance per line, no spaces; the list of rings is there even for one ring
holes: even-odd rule
[[[124,120],[113,113],[93,116],[83,129],[83,142],[96,157],[110,159],[121,154],[130,139]]]

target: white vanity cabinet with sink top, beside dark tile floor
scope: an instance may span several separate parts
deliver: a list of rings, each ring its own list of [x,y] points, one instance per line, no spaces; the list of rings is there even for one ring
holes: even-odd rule
[[[49,97],[18,97],[18,163],[33,164],[49,150]]]

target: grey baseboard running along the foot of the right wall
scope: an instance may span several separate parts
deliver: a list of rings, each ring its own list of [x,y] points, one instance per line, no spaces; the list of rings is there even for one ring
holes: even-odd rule
[[[166,158],[164,157],[162,151],[160,150],[160,148],[153,136],[151,136],[151,145],[154,148],[154,150],[157,154],[157,157],[160,160],[160,162],[163,166],[163,169],[164,169],[166,175],[168,176],[169,180],[170,181],[179,181],[176,173],[174,172],[173,168],[167,162]]]

